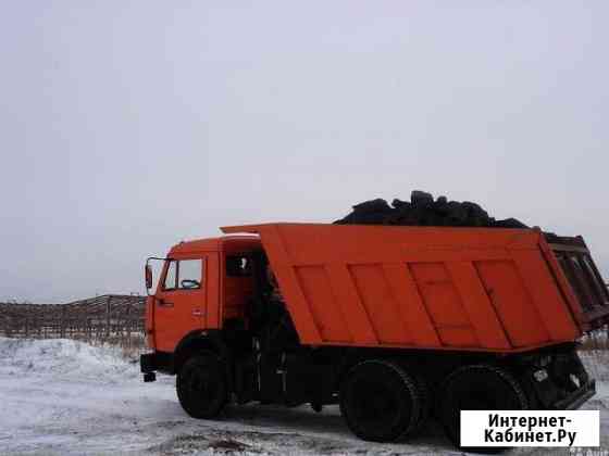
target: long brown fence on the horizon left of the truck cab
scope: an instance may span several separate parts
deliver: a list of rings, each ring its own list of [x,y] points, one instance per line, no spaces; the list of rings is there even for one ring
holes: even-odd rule
[[[104,294],[69,304],[0,303],[0,335],[144,342],[145,296]]]

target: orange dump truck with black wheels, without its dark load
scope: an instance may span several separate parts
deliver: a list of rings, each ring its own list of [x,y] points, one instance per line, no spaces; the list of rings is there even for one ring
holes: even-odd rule
[[[539,229],[262,224],[149,258],[145,381],[184,410],[338,404],[359,438],[459,445],[461,409],[574,409],[577,340],[609,321],[581,237]],[[160,261],[152,290],[153,261]]]

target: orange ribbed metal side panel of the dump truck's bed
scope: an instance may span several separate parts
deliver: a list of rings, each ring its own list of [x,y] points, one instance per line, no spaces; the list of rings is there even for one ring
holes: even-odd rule
[[[304,344],[511,352],[581,335],[535,230],[223,230],[260,235]]]

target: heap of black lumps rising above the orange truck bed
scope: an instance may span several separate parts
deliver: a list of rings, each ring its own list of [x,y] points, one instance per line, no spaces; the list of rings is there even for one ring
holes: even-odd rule
[[[529,228],[515,218],[496,220],[478,204],[470,201],[448,201],[446,197],[434,200],[431,193],[414,190],[410,201],[383,199],[356,204],[338,225],[402,225],[438,227]]]

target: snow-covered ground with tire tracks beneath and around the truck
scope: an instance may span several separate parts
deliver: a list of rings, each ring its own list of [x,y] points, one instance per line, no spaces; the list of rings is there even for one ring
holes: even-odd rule
[[[600,409],[601,443],[609,452],[607,352],[586,364],[601,381],[586,408]],[[398,455],[460,454],[437,426],[401,444],[353,438],[337,407],[227,407],[219,421],[195,420],[179,407],[174,378],[142,383],[139,366],[117,351],[70,340],[0,338],[1,455]],[[519,449],[510,454],[549,454]]]

